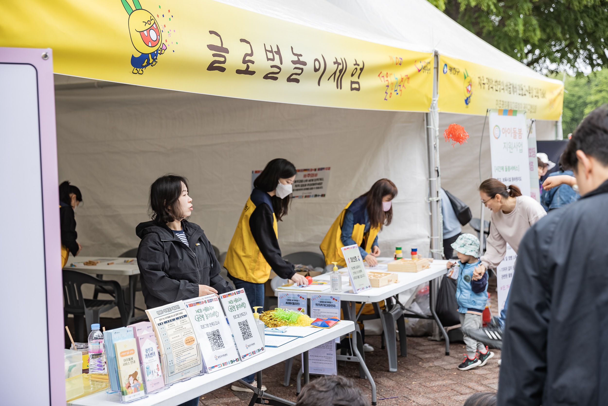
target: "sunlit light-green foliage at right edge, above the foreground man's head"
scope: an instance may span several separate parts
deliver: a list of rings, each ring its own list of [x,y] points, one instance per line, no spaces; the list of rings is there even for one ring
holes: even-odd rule
[[[608,69],[587,77],[566,77],[562,128],[564,138],[573,133],[576,126],[593,109],[608,103]]]

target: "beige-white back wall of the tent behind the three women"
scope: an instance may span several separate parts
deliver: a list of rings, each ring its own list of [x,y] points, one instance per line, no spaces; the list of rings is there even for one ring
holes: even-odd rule
[[[348,110],[230,99],[121,85],[58,89],[60,181],[80,187],[78,242],[86,255],[137,247],[150,184],[167,172],[188,178],[210,241],[226,251],[250,193],[251,171],[282,157],[298,168],[331,167],[327,197],[294,200],[283,222],[283,254],[319,252],[340,210],[379,178],[399,188],[392,225],[379,235],[429,250],[422,113]]]

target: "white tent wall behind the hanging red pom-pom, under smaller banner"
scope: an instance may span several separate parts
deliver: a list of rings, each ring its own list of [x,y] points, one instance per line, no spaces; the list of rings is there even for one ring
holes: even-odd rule
[[[480,218],[481,203],[477,188],[481,181],[479,172],[481,167],[481,180],[492,177],[490,161],[489,123],[483,131],[483,142],[481,144],[480,164],[480,142],[482,141],[482,128],[484,116],[466,116],[465,114],[440,113],[439,114],[439,153],[441,164],[441,187],[464,201],[473,217]],[[445,142],[443,131],[450,124],[460,124],[469,133],[469,139],[462,145],[456,144],[452,147],[451,142]],[[555,139],[555,121],[536,121],[537,139]],[[484,209],[483,218],[490,219],[490,211]],[[463,233],[476,234],[471,226],[463,227]]]

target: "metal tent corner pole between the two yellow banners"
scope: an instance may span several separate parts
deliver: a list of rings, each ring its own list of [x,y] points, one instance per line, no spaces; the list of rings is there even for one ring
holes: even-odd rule
[[[427,201],[430,204],[430,252],[435,259],[441,259],[443,256],[443,219],[441,218],[441,200],[439,197],[439,188],[441,187],[440,169],[439,169],[439,111],[437,106],[438,99],[438,80],[439,80],[439,54],[434,52],[434,68],[433,68],[433,99],[430,104],[429,113],[425,113],[427,151],[429,154],[429,197]],[[435,310],[437,293],[439,290],[438,283],[429,283],[430,298],[434,300],[429,303],[430,308]],[[430,340],[439,341],[439,326],[433,324],[433,335]]]

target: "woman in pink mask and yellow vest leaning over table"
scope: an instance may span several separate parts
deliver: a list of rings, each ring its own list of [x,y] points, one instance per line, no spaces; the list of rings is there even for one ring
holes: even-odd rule
[[[328,270],[333,268],[332,262],[337,262],[338,267],[346,267],[340,248],[353,244],[359,245],[361,257],[370,267],[378,265],[378,233],[393,219],[391,203],[396,195],[395,184],[381,179],[367,193],[348,203],[320,245]]]

